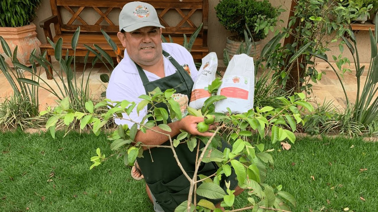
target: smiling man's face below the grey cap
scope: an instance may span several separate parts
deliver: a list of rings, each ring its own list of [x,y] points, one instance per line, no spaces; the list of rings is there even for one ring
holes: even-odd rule
[[[161,28],[155,26],[146,26],[132,32],[118,32],[117,34],[129,57],[145,66],[154,65],[163,57],[160,35]]]

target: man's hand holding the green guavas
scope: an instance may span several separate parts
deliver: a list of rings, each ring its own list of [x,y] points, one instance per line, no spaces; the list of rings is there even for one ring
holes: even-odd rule
[[[179,128],[186,132],[189,132],[192,135],[201,135],[201,136],[211,137],[214,134],[213,132],[198,132],[197,124],[200,123],[201,121],[204,121],[203,117],[188,115],[179,121],[180,122]],[[213,130],[213,129],[215,129],[215,126],[210,125],[209,130]]]

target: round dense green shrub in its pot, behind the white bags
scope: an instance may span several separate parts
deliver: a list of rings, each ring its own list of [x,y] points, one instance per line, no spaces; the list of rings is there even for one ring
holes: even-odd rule
[[[226,49],[234,55],[244,40],[244,30],[250,29],[256,48],[251,49],[253,57],[259,57],[261,42],[269,31],[274,30],[280,10],[268,0],[221,0],[215,6],[219,22],[234,33],[227,38]]]

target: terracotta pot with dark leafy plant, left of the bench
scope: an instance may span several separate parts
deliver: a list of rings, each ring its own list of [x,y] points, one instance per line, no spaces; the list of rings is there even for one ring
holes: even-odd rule
[[[17,58],[20,63],[30,66],[30,52],[36,49],[40,53],[41,42],[37,38],[36,25],[32,23],[36,17],[35,9],[41,0],[2,0],[0,1],[0,35],[13,51],[17,46]],[[2,48],[0,54],[5,56]],[[5,57],[9,66],[13,66],[10,58]]]

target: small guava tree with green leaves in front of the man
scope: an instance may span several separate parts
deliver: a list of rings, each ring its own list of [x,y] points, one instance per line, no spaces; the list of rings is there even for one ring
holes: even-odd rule
[[[220,85],[219,80],[216,80],[209,85],[209,92],[216,93]],[[271,135],[271,142],[283,141],[285,139],[294,143],[296,137],[296,125],[303,122],[301,112],[304,110],[312,111],[313,107],[305,101],[305,95],[302,93],[295,94],[288,98],[279,97],[282,106],[279,108],[272,108],[265,106],[263,108],[252,108],[243,114],[232,114],[231,110],[227,114],[214,112],[214,103],[218,100],[224,99],[224,96],[213,95],[209,97],[203,107],[199,110],[187,108],[189,115],[205,116],[200,131],[206,129],[206,124],[211,124],[212,121],[218,123],[214,129],[211,137],[194,136],[188,132],[182,131],[176,138],[171,138],[168,132],[171,131],[167,125],[167,120],[170,117],[172,120],[177,118],[180,120],[181,111],[180,106],[173,100],[172,95],[174,89],[161,91],[156,88],[148,95],[141,95],[139,98],[143,100],[136,104],[127,100],[111,101],[105,99],[94,105],[91,101],[85,104],[86,113],[74,111],[69,107],[68,99],[63,99],[59,106],[54,109],[48,108],[41,114],[50,113],[51,118],[46,123],[46,128],[50,130],[51,135],[55,136],[56,124],[59,120],[64,120],[67,126],[70,126],[74,121],[80,122],[80,128],[90,126],[93,133],[99,135],[101,128],[110,120],[115,118],[126,119],[122,114],[130,114],[134,109],[137,112],[141,111],[147,104],[152,105],[147,115],[143,117],[140,123],[129,120],[133,124],[131,128],[127,125],[119,125],[114,129],[108,137],[112,141],[110,148],[115,151],[112,156],[123,158],[125,165],[133,165],[137,157],[141,157],[143,148],[170,148],[172,154],[177,161],[181,171],[190,182],[190,189],[187,201],[181,203],[175,212],[220,212],[222,210],[215,208],[211,201],[201,199],[196,200],[197,196],[206,197],[208,199],[220,199],[222,207],[228,207],[227,211],[242,211],[252,210],[254,212],[262,211],[290,211],[287,202],[295,206],[296,201],[291,194],[284,192],[282,186],[270,186],[264,183],[266,178],[266,165],[272,166],[274,161],[269,152],[274,149],[265,149],[263,143],[258,140],[264,138],[266,135]],[[156,103],[164,103],[167,105],[168,111],[164,108],[156,107]],[[106,112],[102,114],[95,114],[95,108],[105,108]],[[150,120],[148,120],[149,117]],[[211,120],[214,118],[214,120]],[[148,121],[147,121],[148,120]],[[146,122],[147,121],[147,122]],[[160,124],[157,124],[157,123]],[[144,123],[144,124],[143,124]],[[159,130],[156,130],[157,126]],[[204,127],[204,128],[203,128]],[[154,128],[154,129],[152,129]],[[138,130],[146,132],[147,129],[161,133],[169,137],[169,146],[149,146],[141,142],[135,141],[135,135]],[[231,145],[232,149],[225,148],[220,151],[218,146],[220,140],[225,138]],[[254,139],[252,139],[254,138]],[[187,145],[190,151],[196,151],[196,165],[193,177],[189,177],[187,172],[181,166],[180,160],[175,152],[178,145]],[[201,146],[201,147],[200,147]],[[101,154],[101,150],[96,150],[97,155],[91,157],[90,169],[100,165],[109,157]],[[198,169],[201,163],[215,162],[218,165],[218,170],[209,176],[198,176]],[[226,177],[231,175],[231,167],[235,170],[237,175],[238,185],[248,191],[249,204],[244,208],[235,209],[234,200],[235,190],[229,188],[229,182],[226,183],[228,189],[223,190],[219,186],[220,179],[223,175]],[[196,194],[196,195],[192,195]]]

